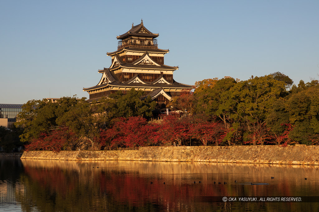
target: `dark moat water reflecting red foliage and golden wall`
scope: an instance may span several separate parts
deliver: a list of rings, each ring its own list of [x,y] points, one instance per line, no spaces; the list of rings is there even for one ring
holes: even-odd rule
[[[319,211],[318,171],[300,165],[0,158],[0,211]],[[221,201],[257,196],[303,198]]]

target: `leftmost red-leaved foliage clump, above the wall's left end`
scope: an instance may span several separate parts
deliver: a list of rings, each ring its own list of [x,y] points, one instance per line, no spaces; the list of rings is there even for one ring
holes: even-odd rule
[[[26,145],[26,151],[30,150],[52,150],[59,152],[65,150],[69,143],[77,140],[75,133],[71,130],[52,130],[50,133],[41,133],[39,138],[33,139]]]

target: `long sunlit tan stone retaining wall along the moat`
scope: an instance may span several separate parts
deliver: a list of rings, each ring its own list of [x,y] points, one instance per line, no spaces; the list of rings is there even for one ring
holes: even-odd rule
[[[29,151],[23,159],[203,161],[319,165],[319,146],[141,147],[121,151]]]

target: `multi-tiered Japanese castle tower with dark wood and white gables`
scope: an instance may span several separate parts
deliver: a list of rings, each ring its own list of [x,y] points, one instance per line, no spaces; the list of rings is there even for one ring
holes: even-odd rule
[[[112,58],[109,68],[99,70],[102,74],[97,85],[83,88],[89,93],[88,102],[122,91],[126,94],[132,88],[145,91],[158,106],[166,106],[172,97],[179,96],[182,90],[191,90],[193,86],[178,83],[173,79],[173,72],[178,66],[164,65],[164,55],[169,50],[159,49],[157,37],[141,24],[134,26],[117,36],[116,51],[107,52]]]

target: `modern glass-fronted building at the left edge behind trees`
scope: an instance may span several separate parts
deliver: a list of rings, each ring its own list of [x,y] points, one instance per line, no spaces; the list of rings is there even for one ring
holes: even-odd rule
[[[10,129],[22,111],[22,104],[0,104],[0,126]]]

